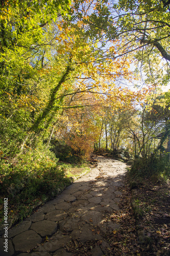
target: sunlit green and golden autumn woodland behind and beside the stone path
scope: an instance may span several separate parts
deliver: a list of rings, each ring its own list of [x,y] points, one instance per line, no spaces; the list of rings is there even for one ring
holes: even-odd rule
[[[0,200],[12,223],[58,195],[92,152],[131,160],[132,187],[166,183],[169,1],[0,6]]]

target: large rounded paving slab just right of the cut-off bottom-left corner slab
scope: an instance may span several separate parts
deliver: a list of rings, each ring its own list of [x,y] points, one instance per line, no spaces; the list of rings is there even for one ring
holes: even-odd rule
[[[17,234],[12,240],[15,250],[21,252],[34,249],[41,241],[42,238],[34,230],[27,230]]]

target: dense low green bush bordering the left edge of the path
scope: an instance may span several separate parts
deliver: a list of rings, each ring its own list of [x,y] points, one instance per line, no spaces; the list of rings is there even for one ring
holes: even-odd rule
[[[41,144],[11,161],[1,159],[1,198],[8,197],[9,209],[19,220],[29,215],[39,201],[52,199],[71,184],[65,177],[64,168],[57,162],[54,153]]]

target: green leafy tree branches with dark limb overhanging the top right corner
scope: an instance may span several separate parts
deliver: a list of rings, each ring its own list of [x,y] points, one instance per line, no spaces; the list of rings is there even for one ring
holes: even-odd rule
[[[170,59],[168,2],[120,0],[117,4],[111,1],[91,3],[94,11],[89,11],[87,17],[84,15],[87,8],[78,8],[75,12],[75,17],[86,26],[86,33],[91,33],[103,45],[112,44],[115,39],[121,42],[103,58],[131,55],[133,63],[141,66],[136,72],[142,71],[147,85],[154,84],[156,89],[167,84]]]

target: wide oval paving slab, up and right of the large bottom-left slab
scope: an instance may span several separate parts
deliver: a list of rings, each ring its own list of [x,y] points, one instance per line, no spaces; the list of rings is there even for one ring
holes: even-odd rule
[[[57,231],[57,223],[43,220],[33,223],[30,228],[40,234],[41,237],[51,236]]]

